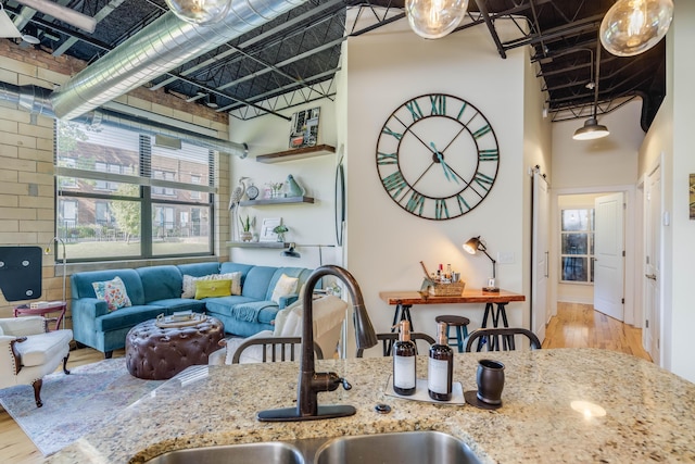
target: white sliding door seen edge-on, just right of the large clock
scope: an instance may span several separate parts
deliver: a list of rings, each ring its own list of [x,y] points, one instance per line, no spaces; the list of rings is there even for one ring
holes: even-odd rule
[[[533,173],[533,268],[532,268],[532,300],[531,327],[543,342],[545,325],[549,318],[548,311],[548,211],[551,198],[545,178]]]

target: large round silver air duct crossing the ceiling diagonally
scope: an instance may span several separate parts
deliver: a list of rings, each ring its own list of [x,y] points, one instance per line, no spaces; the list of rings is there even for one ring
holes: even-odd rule
[[[62,85],[51,95],[53,110],[60,118],[77,117],[305,1],[235,0],[227,16],[210,26],[168,12]]]

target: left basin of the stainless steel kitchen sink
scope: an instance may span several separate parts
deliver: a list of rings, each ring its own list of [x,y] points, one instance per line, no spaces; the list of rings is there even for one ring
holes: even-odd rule
[[[161,454],[148,464],[304,464],[304,457],[293,446],[285,442],[262,442],[192,448]]]

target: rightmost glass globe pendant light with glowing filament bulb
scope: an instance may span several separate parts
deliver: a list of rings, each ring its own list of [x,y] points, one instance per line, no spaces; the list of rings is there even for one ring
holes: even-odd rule
[[[657,45],[672,18],[672,0],[618,0],[601,22],[601,42],[617,57],[634,57]]]

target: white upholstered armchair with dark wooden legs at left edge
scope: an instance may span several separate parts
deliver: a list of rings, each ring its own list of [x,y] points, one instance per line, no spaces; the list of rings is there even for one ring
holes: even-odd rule
[[[73,331],[47,331],[41,316],[0,318],[0,388],[15,385],[34,387],[36,405],[41,407],[43,376],[54,372],[63,361],[67,371],[67,356]]]

